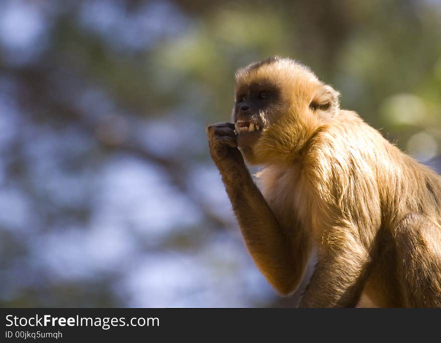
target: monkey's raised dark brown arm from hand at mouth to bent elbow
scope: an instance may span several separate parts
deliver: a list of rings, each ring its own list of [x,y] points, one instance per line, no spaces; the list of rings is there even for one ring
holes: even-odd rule
[[[293,249],[237,148],[234,124],[208,126],[211,157],[222,175],[247,248],[269,283],[282,295],[302,278],[308,259],[305,246]],[[300,228],[295,228],[301,234]],[[301,245],[301,244],[299,244]]]

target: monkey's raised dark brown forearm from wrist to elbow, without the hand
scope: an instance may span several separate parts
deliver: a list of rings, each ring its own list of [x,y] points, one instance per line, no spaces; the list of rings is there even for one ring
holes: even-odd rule
[[[228,172],[219,169],[247,248],[271,285],[287,295],[295,290],[303,275],[306,249],[294,251],[290,237],[280,227],[245,165],[230,167],[235,168]]]

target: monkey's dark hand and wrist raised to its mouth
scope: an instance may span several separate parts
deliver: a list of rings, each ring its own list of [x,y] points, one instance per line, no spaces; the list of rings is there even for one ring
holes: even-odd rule
[[[218,123],[206,127],[211,158],[223,176],[247,170],[238,149],[233,123]]]

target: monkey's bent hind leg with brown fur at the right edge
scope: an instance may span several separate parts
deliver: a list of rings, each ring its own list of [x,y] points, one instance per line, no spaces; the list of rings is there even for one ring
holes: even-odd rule
[[[407,306],[441,307],[441,228],[420,214],[408,214],[394,233]]]

